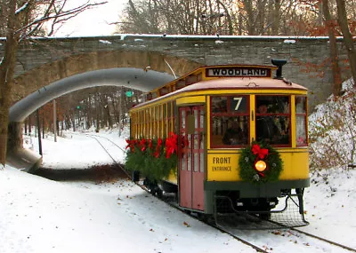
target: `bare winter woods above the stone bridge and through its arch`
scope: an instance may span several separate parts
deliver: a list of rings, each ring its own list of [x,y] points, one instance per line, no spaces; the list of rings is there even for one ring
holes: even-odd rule
[[[9,94],[16,85],[14,67],[19,44],[33,43],[31,36],[55,36],[66,20],[106,4],[88,0],[68,9],[67,2],[0,0],[0,36],[6,37],[4,57],[0,59],[0,163],[4,164],[6,157],[12,106]],[[319,67],[328,66],[333,74],[335,98],[343,92],[344,79],[356,80],[356,0],[128,0],[113,25],[117,26],[117,33],[131,34],[328,36],[330,53]],[[339,36],[344,38],[341,47],[336,45]],[[339,51],[347,51],[348,58],[343,62],[338,58]],[[125,87],[72,92],[56,99],[55,114],[49,103],[36,115],[30,115],[25,131],[30,131],[34,124],[43,134],[54,129],[61,134],[61,130],[93,126],[97,131],[115,126],[120,130],[126,123],[128,109],[140,95],[141,91]]]

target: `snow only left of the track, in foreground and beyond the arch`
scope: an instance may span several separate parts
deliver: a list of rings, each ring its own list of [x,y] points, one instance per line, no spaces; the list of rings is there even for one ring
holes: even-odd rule
[[[37,150],[36,138],[25,142]],[[117,143],[125,149],[125,138]],[[45,138],[43,154],[46,168],[109,162],[93,138],[74,133],[57,142]],[[117,160],[122,158],[123,152]],[[55,182],[6,166],[0,187],[2,253],[255,251],[172,210],[131,181]]]

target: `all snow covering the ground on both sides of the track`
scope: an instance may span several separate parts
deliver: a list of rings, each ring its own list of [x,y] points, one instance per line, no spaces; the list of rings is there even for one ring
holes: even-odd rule
[[[100,136],[125,149],[127,131]],[[37,139],[25,144],[38,150]],[[114,148],[115,151],[114,151]],[[113,147],[117,162],[124,152]],[[95,139],[65,133],[43,139],[45,168],[82,168],[110,162]],[[356,249],[355,170],[312,174],[304,194],[302,230]],[[229,235],[199,223],[153,198],[127,180],[111,183],[55,182],[9,166],[0,170],[0,252],[255,252]],[[270,252],[313,252],[295,241],[247,232]],[[312,243],[312,242],[311,242]],[[303,249],[303,250],[301,250]],[[320,249],[318,252],[348,252]]]

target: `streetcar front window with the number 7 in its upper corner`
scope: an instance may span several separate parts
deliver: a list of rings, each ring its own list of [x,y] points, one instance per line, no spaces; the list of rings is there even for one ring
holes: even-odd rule
[[[239,147],[248,143],[248,96],[214,96],[211,98],[212,147]]]

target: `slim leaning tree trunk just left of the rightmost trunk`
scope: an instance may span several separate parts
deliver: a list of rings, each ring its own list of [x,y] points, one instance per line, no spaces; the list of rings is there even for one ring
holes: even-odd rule
[[[337,46],[336,46],[336,36],[334,33],[334,24],[331,19],[330,10],[328,8],[328,0],[322,0],[322,9],[325,17],[325,26],[328,28],[328,37],[330,41],[330,59],[331,59],[331,69],[333,74],[333,94],[335,96],[340,95],[341,92],[341,70],[339,67],[338,56],[337,56]]]

